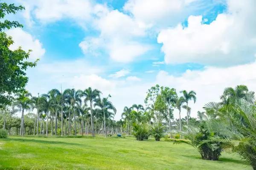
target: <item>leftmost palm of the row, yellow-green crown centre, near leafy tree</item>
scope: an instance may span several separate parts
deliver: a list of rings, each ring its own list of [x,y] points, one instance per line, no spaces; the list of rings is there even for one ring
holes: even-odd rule
[[[24,110],[30,110],[32,108],[32,97],[31,93],[24,91],[21,93],[15,94],[15,106],[17,106],[21,111],[21,122],[20,122],[20,135],[24,136]]]

